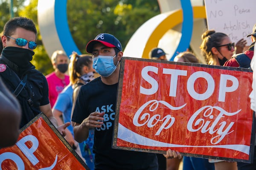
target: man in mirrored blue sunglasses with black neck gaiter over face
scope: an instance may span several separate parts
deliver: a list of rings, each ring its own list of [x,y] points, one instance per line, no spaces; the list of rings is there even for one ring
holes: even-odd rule
[[[41,112],[57,127],[49,104],[47,80],[30,62],[35,54],[33,50],[37,47],[36,38],[37,30],[31,19],[15,17],[5,24],[0,77],[20,103],[20,128]],[[58,127],[62,135],[65,135],[68,125],[70,123]]]

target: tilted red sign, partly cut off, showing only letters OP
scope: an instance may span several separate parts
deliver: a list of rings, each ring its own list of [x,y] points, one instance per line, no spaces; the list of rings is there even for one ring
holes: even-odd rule
[[[89,170],[43,113],[22,129],[14,146],[0,150],[0,169]]]

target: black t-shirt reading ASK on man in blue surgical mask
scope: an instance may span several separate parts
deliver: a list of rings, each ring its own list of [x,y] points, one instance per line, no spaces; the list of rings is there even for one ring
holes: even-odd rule
[[[83,85],[79,91],[72,121],[81,124],[90,113],[105,112],[104,125],[96,128],[93,152],[95,168],[102,170],[148,170],[156,166],[154,153],[112,149],[118,83],[105,85],[98,77]]]

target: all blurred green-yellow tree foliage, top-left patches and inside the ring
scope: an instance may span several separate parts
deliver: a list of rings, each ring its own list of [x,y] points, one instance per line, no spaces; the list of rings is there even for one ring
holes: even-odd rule
[[[21,0],[22,3],[19,0],[16,1],[14,2],[17,8],[15,16],[31,18],[38,28],[38,0],[30,0],[28,6],[23,6],[24,0]],[[0,17],[2,17],[0,26],[3,26],[10,18],[8,6],[9,0],[0,0]],[[87,42],[102,32],[115,35],[124,49],[134,32],[145,21],[157,14],[160,14],[157,0],[67,0],[70,32],[83,54],[86,53]],[[38,47],[35,49],[32,63],[39,71],[47,75],[53,69],[44,49],[39,28],[37,43]]]

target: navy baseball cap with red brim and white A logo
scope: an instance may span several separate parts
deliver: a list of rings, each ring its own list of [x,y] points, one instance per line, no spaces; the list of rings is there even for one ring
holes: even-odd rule
[[[117,40],[117,38],[114,37],[113,35],[107,34],[107,33],[101,33],[101,34],[97,35],[94,38],[94,40],[91,40],[90,42],[88,42],[86,45],[86,51],[88,53],[92,53],[93,45],[95,45],[98,42],[102,43],[106,47],[109,47],[109,48],[116,47],[119,51],[122,51],[122,45],[119,42],[119,40]]]

